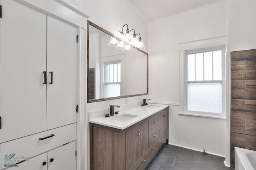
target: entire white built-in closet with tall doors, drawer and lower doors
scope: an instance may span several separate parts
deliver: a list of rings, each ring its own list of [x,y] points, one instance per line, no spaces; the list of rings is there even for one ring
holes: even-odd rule
[[[21,169],[75,169],[77,26],[15,0],[0,5],[0,169],[12,153],[34,158]]]

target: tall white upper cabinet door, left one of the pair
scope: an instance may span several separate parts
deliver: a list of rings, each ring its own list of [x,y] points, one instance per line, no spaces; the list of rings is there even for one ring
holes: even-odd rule
[[[46,15],[2,0],[0,143],[45,131]]]

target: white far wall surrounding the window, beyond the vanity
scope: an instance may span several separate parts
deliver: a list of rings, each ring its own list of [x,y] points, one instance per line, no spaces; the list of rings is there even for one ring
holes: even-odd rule
[[[149,23],[149,98],[169,103],[169,143],[225,155],[224,119],[179,115],[179,51],[226,44],[226,2]]]

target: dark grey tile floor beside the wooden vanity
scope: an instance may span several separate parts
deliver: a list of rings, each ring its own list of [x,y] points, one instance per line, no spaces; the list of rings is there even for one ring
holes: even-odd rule
[[[146,170],[234,170],[226,167],[223,161],[220,156],[164,145]]]

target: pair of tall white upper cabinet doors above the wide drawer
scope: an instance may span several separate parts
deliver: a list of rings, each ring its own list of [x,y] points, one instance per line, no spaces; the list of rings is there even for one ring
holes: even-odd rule
[[[0,142],[75,123],[76,27],[18,2],[1,4]]]

